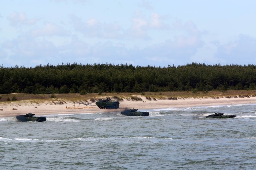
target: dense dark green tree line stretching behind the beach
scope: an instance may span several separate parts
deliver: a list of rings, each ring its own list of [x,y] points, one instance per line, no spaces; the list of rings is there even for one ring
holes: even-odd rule
[[[0,66],[0,94],[255,90],[256,66],[77,64]]]

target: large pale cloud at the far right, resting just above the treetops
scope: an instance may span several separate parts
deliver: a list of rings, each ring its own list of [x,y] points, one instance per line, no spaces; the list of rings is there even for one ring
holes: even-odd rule
[[[191,61],[207,64],[255,64],[256,38],[239,35],[234,41],[221,44],[219,41],[206,43],[191,57]]]

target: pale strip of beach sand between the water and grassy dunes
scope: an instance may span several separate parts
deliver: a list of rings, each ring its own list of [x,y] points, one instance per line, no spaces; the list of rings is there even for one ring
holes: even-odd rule
[[[76,114],[76,113],[108,113],[121,112],[124,109],[164,109],[169,107],[196,107],[196,106],[218,106],[232,104],[256,104],[256,97],[250,98],[178,98],[177,100],[147,100],[144,96],[139,96],[142,101],[120,102],[118,109],[100,109],[95,103],[92,105],[74,104],[66,102],[64,104],[33,103],[30,101],[2,102],[0,103],[0,117],[14,117],[20,114],[34,113],[35,115],[51,114]]]

